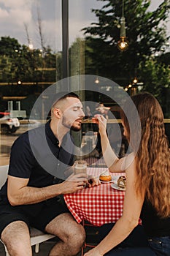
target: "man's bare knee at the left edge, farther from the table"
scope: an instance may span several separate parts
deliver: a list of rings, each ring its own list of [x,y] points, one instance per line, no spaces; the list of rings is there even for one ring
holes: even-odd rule
[[[32,249],[28,226],[23,221],[11,222],[1,233],[1,241],[10,256],[31,256]]]

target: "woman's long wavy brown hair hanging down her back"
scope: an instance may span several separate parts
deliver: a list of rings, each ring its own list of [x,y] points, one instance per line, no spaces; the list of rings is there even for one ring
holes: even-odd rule
[[[170,150],[161,105],[147,92],[136,94],[131,99],[140,124],[129,102],[125,103],[121,118],[128,132],[127,139],[136,154],[136,189],[137,192],[145,189],[145,198],[160,217],[170,217]],[[125,113],[128,113],[128,118]]]

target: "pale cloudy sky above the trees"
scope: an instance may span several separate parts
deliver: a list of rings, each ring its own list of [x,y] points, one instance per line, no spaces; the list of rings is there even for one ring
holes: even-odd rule
[[[152,0],[150,10],[155,10],[162,1]],[[96,0],[69,0],[70,45],[76,37],[83,37],[80,31],[83,27],[96,20],[91,8],[98,8],[103,4],[104,2]],[[42,23],[45,45],[49,45],[55,52],[61,50],[61,0],[0,0],[0,37],[18,39],[20,45],[28,45],[29,37],[33,47],[40,49],[37,13]],[[170,35],[170,22],[167,32]]]

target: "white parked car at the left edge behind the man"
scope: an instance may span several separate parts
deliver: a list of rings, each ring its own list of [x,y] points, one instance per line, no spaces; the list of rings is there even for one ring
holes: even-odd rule
[[[0,125],[2,131],[13,133],[20,128],[20,121],[18,118],[11,118],[8,112],[0,112]]]

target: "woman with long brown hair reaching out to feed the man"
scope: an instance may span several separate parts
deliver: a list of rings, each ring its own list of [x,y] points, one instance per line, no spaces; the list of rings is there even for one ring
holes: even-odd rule
[[[121,116],[124,135],[133,151],[128,157],[117,159],[107,138],[107,120],[98,116],[104,159],[111,172],[125,167],[126,190],[122,217],[85,256],[131,255],[131,249],[113,248],[134,230],[139,217],[150,245],[143,255],[170,255],[170,150],[163,113],[157,99],[149,93],[136,94],[131,99],[136,108],[126,102]],[[140,122],[134,116],[135,110]],[[138,251],[136,248],[136,255]]]

